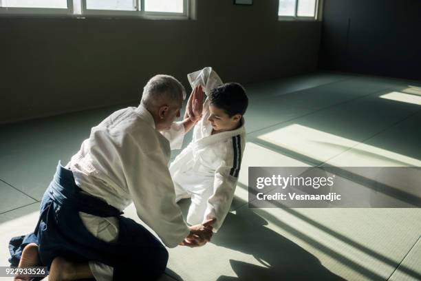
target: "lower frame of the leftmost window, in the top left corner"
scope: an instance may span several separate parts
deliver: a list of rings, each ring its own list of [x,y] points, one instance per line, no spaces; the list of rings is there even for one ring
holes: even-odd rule
[[[76,0],[77,1],[77,0]],[[25,8],[2,7],[0,0],[0,14],[10,15],[70,15],[73,16],[73,0],[67,0],[67,8]]]

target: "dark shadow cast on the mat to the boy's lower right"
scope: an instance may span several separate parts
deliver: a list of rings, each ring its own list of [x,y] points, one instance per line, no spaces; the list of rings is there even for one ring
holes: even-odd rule
[[[189,200],[180,202],[184,216],[189,203]],[[250,254],[259,265],[230,260],[238,277],[222,275],[217,280],[344,280],[323,267],[311,253],[266,225],[268,222],[250,209],[228,214],[212,243]]]

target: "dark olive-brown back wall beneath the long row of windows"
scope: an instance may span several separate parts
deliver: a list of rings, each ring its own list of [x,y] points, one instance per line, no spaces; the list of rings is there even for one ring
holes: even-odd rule
[[[187,87],[208,65],[241,83],[316,70],[320,22],[278,21],[277,0],[197,2],[195,21],[0,17],[0,123],[136,101],[158,73]]]

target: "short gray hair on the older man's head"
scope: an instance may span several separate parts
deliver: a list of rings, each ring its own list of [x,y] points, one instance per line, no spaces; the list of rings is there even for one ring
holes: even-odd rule
[[[178,103],[186,98],[186,90],[173,76],[158,74],[153,76],[143,88],[140,103],[145,107],[155,107],[158,103]]]

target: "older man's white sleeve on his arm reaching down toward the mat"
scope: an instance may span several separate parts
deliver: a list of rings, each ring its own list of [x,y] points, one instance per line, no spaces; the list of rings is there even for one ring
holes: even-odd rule
[[[129,194],[138,217],[167,247],[176,247],[188,236],[190,229],[175,204],[173,180],[158,141],[151,137],[145,142],[137,143],[144,146],[137,147],[140,148],[138,153],[132,146],[124,163]]]

